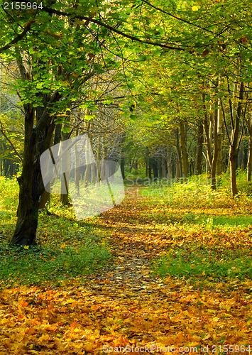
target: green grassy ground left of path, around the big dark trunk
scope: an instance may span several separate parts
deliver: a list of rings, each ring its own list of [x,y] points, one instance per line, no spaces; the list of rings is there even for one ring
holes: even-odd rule
[[[111,260],[97,217],[77,222],[72,207],[54,196],[38,220],[36,247],[9,247],[16,224],[18,184],[0,178],[0,286],[45,285],[96,273]]]

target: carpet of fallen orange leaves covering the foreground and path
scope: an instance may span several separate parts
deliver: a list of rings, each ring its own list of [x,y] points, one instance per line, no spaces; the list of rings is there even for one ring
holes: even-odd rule
[[[251,351],[251,280],[199,278],[193,283],[190,278],[153,274],[150,261],[175,244],[182,246],[188,239],[190,245],[192,238],[199,239],[199,246],[205,239],[209,244],[214,234],[201,227],[185,234],[177,224],[158,224],[148,217],[155,206],[146,202],[137,188],[129,189],[124,202],[97,220],[107,232],[114,258],[85,282],[72,279],[61,287],[1,290],[0,354]],[[209,209],[217,211],[216,206]],[[178,206],[175,212],[185,211]],[[229,234],[223,236],[234,246],[235,241],[248,240],[250,231],[232,231],[234,243]]]

